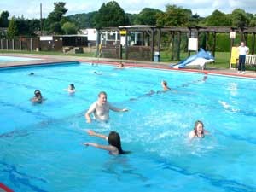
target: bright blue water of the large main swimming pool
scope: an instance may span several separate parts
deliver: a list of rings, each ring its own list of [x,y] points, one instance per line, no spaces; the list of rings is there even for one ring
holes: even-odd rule
[[[162,79],[173,91],[147,96],[161,90]],[[201,73],[88,64],[0,70],[0,182],[15,192],[255,192],[256,81],[202,79]],[[73,96],[63,90],[71,83]],[[32,105],[37,89],[47,100]],[[130,110],[88,125],[84,112],[101,90]],[[197,119],[210,135],[189,142]],[[132,153],[84,147],[106,143],[87,129],[118,131]]]

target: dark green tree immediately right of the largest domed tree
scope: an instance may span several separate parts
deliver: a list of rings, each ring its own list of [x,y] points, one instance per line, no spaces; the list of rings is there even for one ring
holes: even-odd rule
[[[156,15],[161,14],[161,13],[162,13],[162,11],[160,11],[159,9],[144,8],[137,15],[135,24],[155,26],[156,19],[157,19]]]

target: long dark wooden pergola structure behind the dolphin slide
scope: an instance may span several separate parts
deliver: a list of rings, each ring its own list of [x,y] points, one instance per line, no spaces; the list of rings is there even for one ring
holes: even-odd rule
[[[191,27],[157,27],[157,26],[119,26],[119,27],[108,27],[103,28],[98,31],[97,44],[101,44],[101,35],[102,32],[106,31],[117,31],[125,33],[125,53],[122,53],[122,48],[120,48],[120,41],[115,42],[115,44],[108,44],[108,46],[103,46],[104,51],[108,51],[112,49],[112,53],[115,52],[113,57],[119,59],[133,59],[133,60],[145,60],[145,61],[154,61],[154,53],[160,53],[161,47],[161,37],[162,33],[167,32],[170,33],[172,39],[177,38],[177,60],[180,60],[180,43],[182,38],[182,33],[186,33],[188,38],[199,38],[200,33],[204,32],[206,34],[206,49],[212,52],[212,55],[215,55],[216,52],[216,40],[217,33],[230,33],[236,32],[240,34],[240,40],[245,41],[247,43],[247,35],[253,35],[252,50],[251,54],[254,55],[255,49],[255,33],[256,27],[245,27],[245,28],[235,28],[229,26],[191,26]],[[139,44],[137,42],[133,42],[131,44],[131,34],[134,32],[138,32],[141,34],[141,41]],[[213,44],[212,49],[208,46],[209,36],[212,34]],[[199,42],[199,41],[198,41]],[[230,39],[230,47],[233,46],[234,39]],[[174,47],[174,41],[172,41],[172,48]],[[109,51],[108,51],[109,52]],[[109,52],[111,55],[111,51]],[[173,58],[172,51],[172,58]],[[190,52],[189,52],[190,55]],[[171,58],[171,59],[172,59]]]

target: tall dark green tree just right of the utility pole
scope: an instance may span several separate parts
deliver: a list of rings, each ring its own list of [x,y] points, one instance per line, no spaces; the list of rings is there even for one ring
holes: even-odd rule
[[[55,9],[49,13],[49,16],[44,22],[44,30],[50,34],[62,34],[61,20],[64,19],[63,15],[67,13],[64,2],[54,3]]]

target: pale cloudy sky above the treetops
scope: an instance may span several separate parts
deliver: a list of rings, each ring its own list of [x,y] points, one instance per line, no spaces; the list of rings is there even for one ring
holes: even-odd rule
[[[47,17],[54,9],[55,2],[65,2],[66,15],[74,15],[96,11],[101,8],[104,0],[0,0],[0,12],[8,10],[10,16],[23,15],[28,19],[40,18],[40,3],[43,6],[43,17]],[[247,13],[256,14],[256,0],[116,0],[125,13],[138,14],[143,8],[166,10],[166,4],[176,4],[185,9],[191,9],[193,14],[211,15],[215,9],[230,14],[236,8]]]

